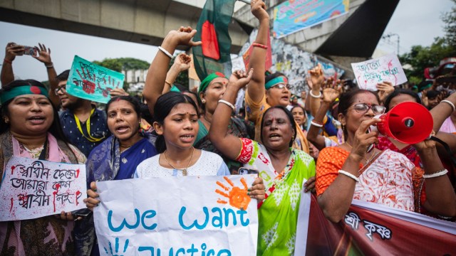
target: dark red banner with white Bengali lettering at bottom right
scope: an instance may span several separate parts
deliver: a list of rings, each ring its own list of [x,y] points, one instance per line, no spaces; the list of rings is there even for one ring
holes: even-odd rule
[[[346,217],[331,223],[311,196],[306,255],[455,255],[456,235],[423,225],[418,222],[420,215],[413,215],[401,220],[352,205]],[[356,216],[358,221],[351,218]],[[368,223],[380,225],[390,233],[375,229],[369,237]]]

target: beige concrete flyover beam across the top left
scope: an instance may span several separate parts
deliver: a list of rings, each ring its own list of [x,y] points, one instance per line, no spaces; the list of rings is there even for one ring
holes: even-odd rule
[[[1,0],[0,21],[160,46],[168,31],[195,28],[202,5],[199,0]],[[239,53],[249,35],[237,22],[229,30],[232,53]]]

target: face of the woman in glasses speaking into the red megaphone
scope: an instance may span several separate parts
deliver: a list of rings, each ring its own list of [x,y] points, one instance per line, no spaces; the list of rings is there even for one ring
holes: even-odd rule
[[[361,104],[368,105],[368,110],[358,110],[356,105]],[[350,107],[348,107],[345,117],[343,114],[339,114],[339,119],[341,120],[341,123],[346,126],[348,134],[354,134],[361,122],[367,119],[372,119],[376,114],[378,114],[374,113],[372,110],[372,107],[375,105],[379,105],[379,103],[377,97],[375,97],[375,95],[371,92],[361,92],[354,97],[353,103]]]

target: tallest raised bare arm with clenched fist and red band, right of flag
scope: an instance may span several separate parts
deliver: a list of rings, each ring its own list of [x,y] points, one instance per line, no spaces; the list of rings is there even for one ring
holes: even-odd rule
[[[255,43],[262,46],[267,46],[268,31],[269,31],[269,14],[266,11],[266,4],[263,1],[252,1],[250,9],[255,18],[259,21],[258,35]],[[247,93],[253,102],[260,102],[264,96],[264,71],[266,64],[267,49],[261,47],[253,47],[252,56],[250,56],[249,69],[254,69],[252,80],[247,87]]]

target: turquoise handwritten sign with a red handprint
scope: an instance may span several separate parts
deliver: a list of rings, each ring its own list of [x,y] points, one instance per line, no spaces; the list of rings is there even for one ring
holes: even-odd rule
[[[108,103],[109,92],[114,88],[122,88],[124,78],[122,73],[95,65],[75,55],[66,82],[66,92],[86,100]]]

